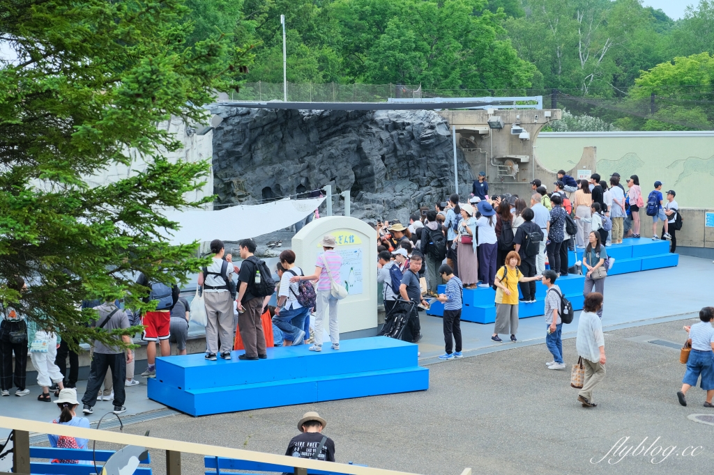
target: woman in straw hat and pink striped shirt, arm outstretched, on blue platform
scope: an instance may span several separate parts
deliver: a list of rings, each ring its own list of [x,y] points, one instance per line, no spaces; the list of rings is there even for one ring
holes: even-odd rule
[[[315,263],[315,272],[312,275],[296,275],[290,279],[290,282],[298,282],[300,280],[318,281],[315,312],[315,343],[308,348],[311,352],[322,351],[323,321],[325,320],[325,314],[328,313],[328,310],[328,327],[330,329],[332,349],[340,349],[340,327],[337,322],[337,303],[339,300],[332,295],[331,289],[332,279],[339,282],[342,256],[335,250],[337,240],[334,236],[325,235],[320,241],[320,245],[325,252],[318,255],[317,262]]]

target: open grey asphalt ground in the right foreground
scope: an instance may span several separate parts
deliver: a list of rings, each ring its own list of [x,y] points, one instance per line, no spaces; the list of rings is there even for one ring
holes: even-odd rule
[[[328,420],[326,434],[336,441],[341,462],[430,475],[458,475],[466,466],[476,474],[702,474],[714,463],[714,427],[687,416],[714,410],[702,407],[700,389],[692,389],[689,407],[681,407],[675,396],[684,369],[678,350],[640,342],[683,341],[682,325],[692,317],[607,332],[608,374],[595,391],[600,406],[593,409],[575,401],[569,372],[545,368],[549,353],[535,344],[431,364],[426,392],[201,418],[176,415],[131,424],[126,431],[150,429],[168,439],[281,454],[301,414],[316,410]],[[575,339],[563,347],[572,364]],[[640,455],[597,463],[625,436],[627,445],[648,437],[646,449],[660,437],[655,447],[676,448],[663,461],[662,455]],[[687,446],[703,448],[683,456]],[[163,454],[151,457],[154,473],[163,474]],[[198,456],[184,456],[184,473],[201,472],[202,463]]]

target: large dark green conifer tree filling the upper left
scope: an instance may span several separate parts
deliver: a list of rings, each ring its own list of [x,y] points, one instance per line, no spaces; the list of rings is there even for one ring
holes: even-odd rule
[[[16,53],[0,63],[0,301],[41,327],[89,339],[81,300],[147,310],[134,272],[183,282],[201,264],[195,244],[162,237],[176,229],[162,210],[201,204],[185,196],[208,163],[169,163],[164,150],[180,144],[156,124],[205,120],[201,105],[250,58],[218,33],[188,46],[186,13],[180,0],[0,2],[0,38]],[[130,165],[129,149],[143,173],[87,185]],[[8,285],[17,277],[26,292]]]

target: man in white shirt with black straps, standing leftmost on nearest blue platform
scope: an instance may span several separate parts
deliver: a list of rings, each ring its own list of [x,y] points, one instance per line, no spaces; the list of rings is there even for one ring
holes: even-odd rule
[[[198,285],[203,285],[203,301],[206,305],[206,359],[216,361],[218,337],[221,338],[221,358],[231,359],[233,349],[233,299],[231,298],[231,274],[235,272],[233,257],[228,254],[223,260],[226,249],[223,241],[211,241],[213,262],[203,267],[198,274]]]

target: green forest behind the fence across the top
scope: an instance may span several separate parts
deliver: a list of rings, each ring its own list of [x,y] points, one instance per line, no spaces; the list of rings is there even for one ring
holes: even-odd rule
[[[674,21],[639,0],[186,0],[200,41],[252,45],[245,82],[545,96],[557,130],[714,128],[714,0]]]

